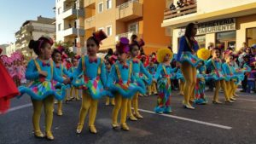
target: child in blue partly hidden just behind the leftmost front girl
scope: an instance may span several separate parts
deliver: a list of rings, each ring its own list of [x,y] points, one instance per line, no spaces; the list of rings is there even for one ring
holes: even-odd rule
[[[63,66],[61,64],[61,50],[59,49],[54,49],[52,55],[51,55],[52,60],[54,60],[55,62],[55,67],[56,67],[56,73],[58,76],[60,77],[64,77],[67,76],[68,78],[72,77],[72,73],[67,72],[67,69],[65,66]],[[55,85],[55,89],[58,89],[57,91],[61,92],[61,88],[64,87],[65,89],[67,89],[67,86],[61,83],[57,83],[56,81],[54,81],[54,85]],[[61,116],[62,113],[62,101],[58,101],[58,110],[57,110],[57,115]]]

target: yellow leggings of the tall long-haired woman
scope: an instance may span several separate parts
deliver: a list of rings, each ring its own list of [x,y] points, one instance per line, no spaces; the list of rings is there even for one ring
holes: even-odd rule
[[[189,100],[193,99],[196,84],[196,68],[188,62],[183,62],[181,70],[185,78],[183,104],[190,106]]]

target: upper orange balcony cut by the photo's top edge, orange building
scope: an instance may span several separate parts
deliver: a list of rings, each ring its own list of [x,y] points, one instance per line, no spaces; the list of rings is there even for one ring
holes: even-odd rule
[[[129,21],[143,17],[143,4],[131,0],[119,5],[116,9],[116,20]]]

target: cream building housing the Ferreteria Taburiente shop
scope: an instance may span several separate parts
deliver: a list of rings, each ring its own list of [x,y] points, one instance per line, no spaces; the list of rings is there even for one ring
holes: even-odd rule
[[[172,47],[177,52],[179,37],[189,22],[198,24],[195,37],[201,48],[208,43],[221,43],[225,48],[240,49],[242,43],[256,43],[256,0],[190,0],[177,8],[178,0],[166,0],[165,17],[161,26],[172,36]],[[171,4],[176,9],[169,9]]]

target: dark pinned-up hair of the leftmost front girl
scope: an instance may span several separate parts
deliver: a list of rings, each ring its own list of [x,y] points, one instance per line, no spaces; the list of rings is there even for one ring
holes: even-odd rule
[[[32,39],[28,44],[28,48],[33,49],[36,55],[40,55],[40,49],[44,49],[47,43],[52,45],[52,39],[49,37],[39,37],[37,41]]]

